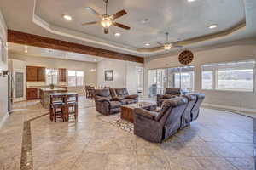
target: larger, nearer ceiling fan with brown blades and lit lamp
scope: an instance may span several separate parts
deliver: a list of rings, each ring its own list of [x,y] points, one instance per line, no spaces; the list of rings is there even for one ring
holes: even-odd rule
[[[101,24],[103,26],[103,28],[104,28],[104,33],[105,34],[108,34],[108,28],[110,26],[112,26],[112,25],[113,26],[118,26],[118,27],[123,28],[125,30],[130,30],[129,26],[125,26],[123,24],[120,24],[120,23],[114,21],[115,19],[118,19],[119,17],[127,14],[126,11],[123,9],[123,10],[120,10],[119,12],[117,12],[116,14],[109,15],[108,14],[108,0],[103,0],[103,1],[104,1],[104,3],[106,3],[106,12],[105,12],[105,14],[99,14],[93,8],[86,7],[86,9],[91,14],[96,14],[96,16],[100,17],[101,20],[93,21],[93,22],[86,22],[86,23],[84,23],[82,25],[86,26],[86,25],[93,25],[93,24]]]

